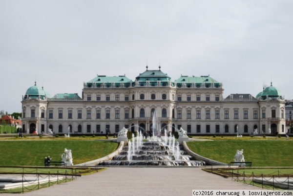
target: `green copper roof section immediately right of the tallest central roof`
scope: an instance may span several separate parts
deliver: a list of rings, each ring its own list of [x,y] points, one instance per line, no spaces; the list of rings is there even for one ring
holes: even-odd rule
[[[175,83],[177,84],[177,86],[182,86],[183,83],[185,83],[186,85],[194,84],[196,87],[201,87],[202,85],[206,87],[211,85],[214,85],[215,87],[221,86],[221,84],[218,81],[212,79],[209,76],[181,76],[179,79],[175,80]]]

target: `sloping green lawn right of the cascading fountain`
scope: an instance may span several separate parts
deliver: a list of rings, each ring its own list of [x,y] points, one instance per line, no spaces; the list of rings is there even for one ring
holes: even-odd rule
[[[293,165],[293,140],[221,139],[192,141],[187,144],[191,151],[224,163],[232,162],[236,150],[243,149],[245,161],[252,162],[253,167],[291,167]]]

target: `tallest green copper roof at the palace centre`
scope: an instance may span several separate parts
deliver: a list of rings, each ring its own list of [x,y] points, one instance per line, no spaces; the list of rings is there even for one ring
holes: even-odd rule
[[[163,73],[161,71],[161,67],[159,67],[159,70],[147,70],[144,73],[140,73],[139,76],[137,76],[135,79],[139,82],[146,82],[146,81],[162,81],[162,82],[168,82],[170,81],[170,77],[167,76],[166,73]]]

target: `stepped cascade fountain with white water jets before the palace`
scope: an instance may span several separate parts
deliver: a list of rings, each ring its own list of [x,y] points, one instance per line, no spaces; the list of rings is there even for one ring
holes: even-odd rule
[[[100,166],[203,166],[204,161],[194,160],[193,156],[188,155],[180,142],[176,141],[174,135],[155,134],[156,118],[153,113],[152,132],[147,139],[143,141],[143,134],[137,131],[137,136],[132,134],[132,140],[128,141],[128,146],[124,146],[120,154],[113,157],[112,160],[103,161]],[[128,128],[130,129],[130,128]],[[128,129],[123,128],[118,133],[119,136],[125,138]],[[186,131],[180,129],[179,139],[188,139]],[[127,137],[126,137],[127,138]]]

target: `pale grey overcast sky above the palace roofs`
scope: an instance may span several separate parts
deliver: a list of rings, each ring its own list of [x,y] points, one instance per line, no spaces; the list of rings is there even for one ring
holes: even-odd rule
[[[97,74],[209,75],[231,93],[293,99],[292,0],[0,0],[0,110],[34,86],[78,93]]]

